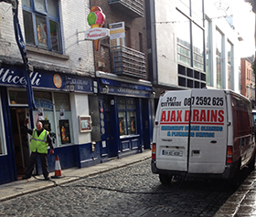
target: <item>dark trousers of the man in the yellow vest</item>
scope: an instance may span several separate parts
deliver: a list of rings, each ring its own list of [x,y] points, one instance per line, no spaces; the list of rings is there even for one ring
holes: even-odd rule
[[[41,160],[42,171],[43,171],[44,177],[47,178],[48,177],[48,154],[42,154],[42,153],[37,153],[37,152],[31,152],[31,155],[29,157],[27,171],[26,171],[26,176],[29,178],[31,177],[38,155]]]

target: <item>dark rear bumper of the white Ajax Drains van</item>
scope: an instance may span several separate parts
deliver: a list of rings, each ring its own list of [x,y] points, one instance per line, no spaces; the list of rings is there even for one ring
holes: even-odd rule
[[[226,165],[223,173],[190,173],[187,171],[159,170],[155,165],[155,160],[151,160],[151,171],[155,174],[166,174],[170,176],[181,176],[187,178],[229,180],[235,176],[236,171],[238,171],[239,165],[239,161]]]

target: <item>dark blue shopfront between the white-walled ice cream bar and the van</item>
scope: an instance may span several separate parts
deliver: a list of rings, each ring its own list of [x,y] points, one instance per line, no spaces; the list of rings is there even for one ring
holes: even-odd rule
[[[101,117],[101,159],[150,149],[153,92],[151,83],[97,72]]]

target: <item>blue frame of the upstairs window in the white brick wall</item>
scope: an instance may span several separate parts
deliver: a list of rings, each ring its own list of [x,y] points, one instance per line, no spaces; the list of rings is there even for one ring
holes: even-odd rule
[[[32,15],[32,27],[33,27],[33,38],[34,38],[34,45],[32,44],[27,44],[27,46],[30,46],[30,47],[37,47],[37,48],[40,48],[40,49],[44,49],[44,50],[48,50],[50,52],[54,52],[54,53],[59,53],[59,54],[63,54],[63,47],[62,47],[62,38],[61,38],[61,31],[60,31],[60,17],[59,17],[59,1],[56,0],[56,5],[57,5],[57,16],[58,17],[55,17],[55,16],[52,16],[52,15],[49,15],[48,14],[48,1],[50,0],[44,0],[44,3],[45,3],[45,8],[46,8],[46,13],[45,12],[42,12],[42,11],[39,11],[36,9],[36,6],[35,6],[35,0],[29,0],[30,1],[30,5],[31,7],[27,6],[27,5],[22,5],[22,10],[23,11],[26,11],[27,13],[30,13]],[[24,16],[24,15],[23,15]],[[47,25],[47,39],[48,39],[48,48],[45,48],[45,47],[39,47],[38,46],[38,38],[37,38],[37,16],[39,17],[43,17],[45,20],[46,20],[46,25]],[[59,33],[59,44],[58,44],[58,47],[59,47],[59,50],[53,50],[52,49],[52,38],[50,36],[50,21],[53,21],[58,25],[57,27],[57,30],[56,32]],[[24,25],[24,31],[25,31],[25,25]],[[26,35],[25,35],[25,40],[26,40]]]

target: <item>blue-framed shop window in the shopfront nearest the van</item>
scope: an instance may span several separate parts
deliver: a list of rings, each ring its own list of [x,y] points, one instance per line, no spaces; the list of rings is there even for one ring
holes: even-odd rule
[[[118,99],[118,119],[120,136],[133,135],[136,129],[136,103],[135,99]]]

